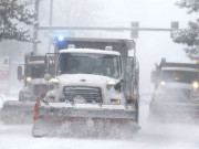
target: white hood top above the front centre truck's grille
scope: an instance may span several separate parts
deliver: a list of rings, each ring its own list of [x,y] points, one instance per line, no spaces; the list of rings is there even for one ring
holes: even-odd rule
[[[105,87],[106,82],[117,81],[108,76],[91,75],[91,74],[64,74],[57,76],[61,86],[91,86]]]

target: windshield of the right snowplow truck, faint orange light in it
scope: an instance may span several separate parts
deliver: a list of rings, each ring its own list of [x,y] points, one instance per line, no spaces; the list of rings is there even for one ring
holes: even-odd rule
[[[191,84],[198,81],[198,72],[191,71],[163,71],[161,81],[165,82],[179,82]]]

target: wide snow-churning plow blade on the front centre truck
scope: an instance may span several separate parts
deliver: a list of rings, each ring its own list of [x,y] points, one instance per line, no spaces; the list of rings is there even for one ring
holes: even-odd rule
[[[32,129],[34,137],[129,138],[140,129],[135,123],[133,107],[94,104],[74,106],[66,103],[51,103],[50,105],[35,104]]]

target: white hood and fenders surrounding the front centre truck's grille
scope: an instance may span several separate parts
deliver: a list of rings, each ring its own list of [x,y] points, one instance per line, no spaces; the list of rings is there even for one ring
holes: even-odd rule
[[[53,92],[48,96],[55,96],[55,102],[64,98],[63,87],[98,87],[102,92],[102,100],[104,104],[111,104],[111,99],[121,99],[121,104],[125,103],[123,93],[115,91],[114,87],[107,86],[107,82],[117,83],[118,79],[108,76],[93,74],[64,74],[56,77],[59,83]]]

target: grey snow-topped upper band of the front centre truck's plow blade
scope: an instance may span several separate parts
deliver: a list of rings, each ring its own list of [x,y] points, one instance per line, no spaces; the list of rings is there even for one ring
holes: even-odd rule
[[[136,118],[136,109],[133,106],[124,105],[97,105],[97,104],[75,104],[50,103],[41,104],[40,116],[61,116],[76,118],[115,118],[132,119]]]

